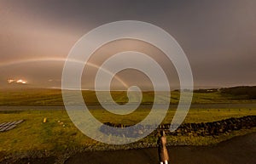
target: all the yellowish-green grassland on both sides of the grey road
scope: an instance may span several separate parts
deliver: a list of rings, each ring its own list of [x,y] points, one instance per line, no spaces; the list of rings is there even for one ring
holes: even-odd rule
[[[96,93],[83,91],[84,101],[87,105],[98,105]],[[119,104],[127,102],[125,91],[113,91],[112,97]],[[102,95],[106,94],[102,92]],[[172,91],[171,103],[177,104],[179,92]],[[256,115],[255,99],[240,99],[242,95],[223,94],[216,92],[195,92],[192,104],[199,105],[198,109],[191,108],[184,122],[214,122],[230,117],[241,117]],[[236,99],[234,99],[236,98]],[[160,99],[165,102],[166,98]],[[106,98],[108,103],[109,98]],[[153,92],[143,92],[143,105],[151,105],[154,101]],[[239,108],[223,107],[219,104],[241,104]],[[244,103],[247,103],[246,106]],[[212,105],[205,109],[200,105]],[[44,106],[44,110],[26,110],[22,106]],[[0,161],[3,156],[61,156],[61,159],[80,150],[109,150],[109,149],[131,149],[138,147],[155,146],[157,136],[149,135],[134,144],[121,147],[101,144],[86,137],[74,127],[73,122],[67,116],[66,110],[53,110],[49,106],[62,106],[60,89],[0,89],[0,107],[16,106],[22,110],[0,110],[0,123],[25,120],[20,125],[8,132],[0,133]],[[143,109],[143,105],[129,115],[117,116],[107,110],[93,109],[90,112],[100,122],[112,122],[125,125],[133,125],[142,121],[150,110]],[[172,105],[171,105],[172,106]],[[174,105],[175,106],[175,105]],[[243,106],[243,107],[242,107]],[[16,109],[17,109],[16,108]],[[162,123],[172,122],[175,107],[168,110]],[[43,122],[47,118],[47,122]],[[167,136],[168,144],[209,145],[217,144],[237,135],[256,132],[256,128],[242,129],[218,137],[191,137],[191,136]],[[67,156],[66,156],[67,155]],[[64,156],[64,157],[63,157]],[[65,157],[66,156],[66,157]]]

